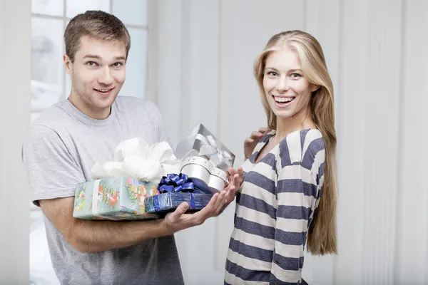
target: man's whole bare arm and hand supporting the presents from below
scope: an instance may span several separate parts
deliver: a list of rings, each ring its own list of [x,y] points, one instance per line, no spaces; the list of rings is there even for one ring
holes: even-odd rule
[[[46,217],[61,232],[66,241],[78,252],[103,252],[128,247],[148,239],[163,237],[181,229],[203,224],[206,219],[220,214],[232,202],[239,189],[240,175],[199,212],[185,214],[188,203],[183,202],[165,219],[132,222],[88,221],[73,217],[74,197],[40,200]]]

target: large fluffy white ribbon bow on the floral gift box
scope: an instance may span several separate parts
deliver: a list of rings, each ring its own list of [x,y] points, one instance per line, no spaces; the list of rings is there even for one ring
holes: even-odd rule
[[[91,169],[94,180],[126,175],[155,183],[179,171],[180,163],[168,142],[148,145],[142,138],[123,140],[116,147],[114,161],[96,162]]]

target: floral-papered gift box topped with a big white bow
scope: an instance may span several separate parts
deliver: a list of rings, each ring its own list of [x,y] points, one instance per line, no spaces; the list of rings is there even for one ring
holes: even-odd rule
[[[156,219],[144,199],[158,194],[158,182],[178,172],[180,162],[168,142],[148,145],[142,138],[119,143],[113,161],[97,161],[93,180],[76,187],[73,217],[79,219]]]

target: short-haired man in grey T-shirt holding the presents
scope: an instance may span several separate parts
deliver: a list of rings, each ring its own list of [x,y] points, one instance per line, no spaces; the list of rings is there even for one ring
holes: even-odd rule
[[[234,198],[242,172],[233,170],[228,187],[195,214],[184,214],[184,202],[153,221],[73,218],[76,185],[91,180],[96,160],[112,160],[122,140],[143,135],[153,144],[168,137],[155,104],[117,97],[131,46],[119,19],[87,11],[71,19],[64,39],[71,93],[31,125],[23,145],[56,275],[61,284],[183,284],[173,234],[218,215]]]

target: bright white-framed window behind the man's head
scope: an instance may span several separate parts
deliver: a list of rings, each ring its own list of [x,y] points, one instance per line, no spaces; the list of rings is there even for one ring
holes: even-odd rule
[[[147,0],[33,0],[31,37],[31,120],[58,100],[71,83],[63,68],[63,31],[73,16],[102,10],[117,16],[131,34],[126,82],[119,95],[144,97],[147,68]]]

